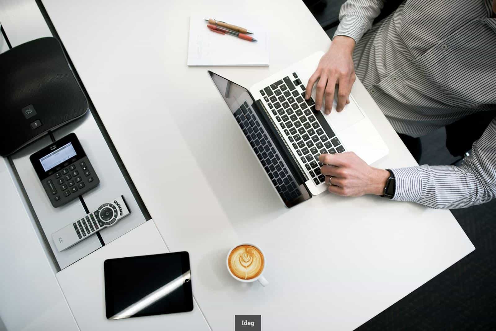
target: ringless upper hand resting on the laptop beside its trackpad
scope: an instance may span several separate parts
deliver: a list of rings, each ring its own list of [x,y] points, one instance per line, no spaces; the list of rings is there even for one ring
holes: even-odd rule
[[[353,38],[336,36],[329,51],[320,59],[317,69],[309,79],[307,92],[305,93],[305,98],[310,99],[311,90],[318,79],[317,94],[315,96],[316,110],[320,110],[322,107],[322,98],[325,92],[324,112],[326,114],[331,113],[336,84],[339,85],[336,110],[341,111],[345,104],[350,103],[348,96],[355,82],[355,68],[352,57],[354,48],[355,40]]]

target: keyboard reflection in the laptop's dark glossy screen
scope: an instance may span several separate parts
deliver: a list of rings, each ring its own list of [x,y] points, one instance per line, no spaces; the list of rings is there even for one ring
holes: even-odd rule
[[[234,112],[234,117],[281,198],[288,201],[298,198],[301,195],[298,184],[246,101]]]

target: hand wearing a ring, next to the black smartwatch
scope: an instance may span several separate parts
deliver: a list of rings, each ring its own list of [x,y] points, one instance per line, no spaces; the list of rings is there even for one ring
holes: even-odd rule
[[[318,159],[324,164],[320,171],[325,183],[331,180],[329,192],[348,197],[384,194],[389,171],[368,165],[353,152],[321,154]]]

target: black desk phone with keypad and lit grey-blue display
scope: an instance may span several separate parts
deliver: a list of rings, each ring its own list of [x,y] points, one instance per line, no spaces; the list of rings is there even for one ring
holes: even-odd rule
[[[74,133],[69,133],[34,153],[29,159],[55,208],[74,200],[100,183]]]

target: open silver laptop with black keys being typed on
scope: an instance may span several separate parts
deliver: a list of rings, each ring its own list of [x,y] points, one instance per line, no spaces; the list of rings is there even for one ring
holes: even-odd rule
[[[315,110],[315,89],[305,88],[322,52],[315,53],[248,89],[209,71],[234,119],[265,169],[276,192],[290,208],[327,190],[318,156],[355,152],[368,164],[388,149],[353,95],[350,104],[329,115]]]

